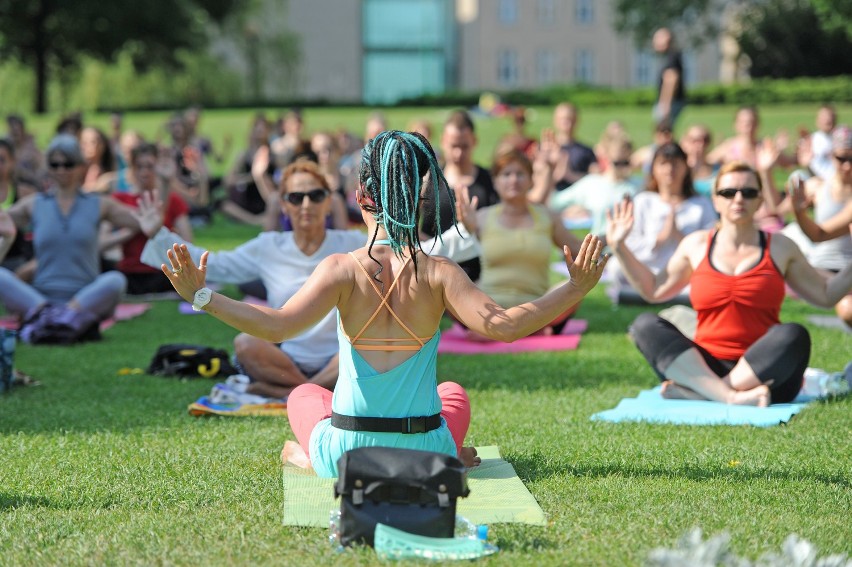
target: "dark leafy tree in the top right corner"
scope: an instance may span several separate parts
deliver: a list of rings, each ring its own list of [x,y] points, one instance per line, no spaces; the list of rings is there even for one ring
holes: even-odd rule
[[[752,77],[831,77],[852,73],[852,40],[826,29],[811,0],[755,3],[740,15],[737,34]]]

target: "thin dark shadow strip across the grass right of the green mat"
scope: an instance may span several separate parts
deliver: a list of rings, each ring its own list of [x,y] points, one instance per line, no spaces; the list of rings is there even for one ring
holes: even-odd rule
[[[507,459],[508,460],[508,459]],[[852,489],[852,479],[840,472],[836,474],[818,474],[797,470],[795,472],[772,469],[768,467],[757,469],[717,468],[679,465],[672,468],[642,467],[624,463],[606,464],[577,464],[569,460],[558,460],[540,454],[512,458],[518,476],[525,480],[537,481],[557,476],[575,476],[586,478],[626,477],[626,478],[669,478],[678,477],[694,481],[728,479],[733,481],[750,481],[773,479],[778,482],[795,482],[809,480],[826,485],[836,485]]]

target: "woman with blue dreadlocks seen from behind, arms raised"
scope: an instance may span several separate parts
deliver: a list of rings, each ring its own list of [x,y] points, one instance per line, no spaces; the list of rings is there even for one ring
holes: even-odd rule
[[[456,263],[420,248],[420,201],[429,192],[437,203],[441,191],[450,189],[425,138],[395,130],[376,136],[362,152],[357,192],[366,245],[323,260],[280,309],[212,293],[204,287],[206,252],[196,266],[185,246],[168,251],[170,266],[162,269],[184,299],[269,341],[298,335],[337,307],[340,373],[334,393],[304,384],[287,404],[298,445],[288,442],[283,457],[312,465],[319,476],[336,476],[337,459],[366,445],[439,451],[477,464],[475,451],[462,446],[470,424],[467,394],[458,384],[437,383],[444,312],[482,335],[511,342],[579,302],[606,265],[601,241],[589,235],[576,260],[563,249],[570,281],[505,309]],[[441,234],[446,227],[434,229]]]

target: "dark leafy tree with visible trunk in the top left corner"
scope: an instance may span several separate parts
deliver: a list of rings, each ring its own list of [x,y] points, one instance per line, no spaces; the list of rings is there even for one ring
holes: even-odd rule
[[[0,0],[0,57],[30,66],[35,110],[47,110],[52,71],[73,68],[81,55],[110,61],[129,48],[139,69],[178,66],[180,49],[199,49],[207,26],[236,12],[239,0]]]

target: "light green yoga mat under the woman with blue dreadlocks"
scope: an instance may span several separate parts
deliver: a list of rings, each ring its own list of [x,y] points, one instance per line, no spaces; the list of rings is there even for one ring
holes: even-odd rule
[[[500,457],[497,447],[477,447],[482,464],[468,472],[470,496],[459,498],[457,512],[475,524],[545,525],[544,511]],[[340,509],[333,478],[312,470],[284,466],[284,525],[328,527],[329,512]]]

